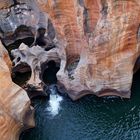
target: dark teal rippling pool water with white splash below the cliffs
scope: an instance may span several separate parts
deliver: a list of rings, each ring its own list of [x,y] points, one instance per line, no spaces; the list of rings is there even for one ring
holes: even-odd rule
[[[35,99],[36,128],[22,140],[140,140],[140,74],[131,99],[86,96],[76,102],[60,97]],[[137,84],[136,84],[137,83]],[[55,108],[54,106],[59,106]],[[51,109],[51,107],[54,107]]]

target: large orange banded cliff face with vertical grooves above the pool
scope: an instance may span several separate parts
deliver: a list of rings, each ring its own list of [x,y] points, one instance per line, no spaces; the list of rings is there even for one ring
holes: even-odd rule
[[[139,56],[138,0],[38,1],[66,48],[57,73],[72,99],[87,94],[130,97]]]

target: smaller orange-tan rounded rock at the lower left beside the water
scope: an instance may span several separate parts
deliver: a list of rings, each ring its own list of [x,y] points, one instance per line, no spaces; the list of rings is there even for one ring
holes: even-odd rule
[[[33,109],[26,92],[12,82],[11,61],[0,43],[0,139],[19,140],[22,130],[33,127]]]

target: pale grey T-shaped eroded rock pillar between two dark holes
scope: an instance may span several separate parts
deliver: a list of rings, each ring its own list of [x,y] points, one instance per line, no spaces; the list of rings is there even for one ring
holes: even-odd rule
[[[41,48],[40,46],[29,48],[27,45],[22,43],[18,49],[11,51],[11,55],[14,57],[14,67],[24,63],[31,67],[31,78],[27,82],[27,86],[29,85],[31,87],[38,88],[38,90],[42,90],[42,81],[40,79],[41,65],[50,60],[60,63],[58,48],[46,51],[45,48]]]

